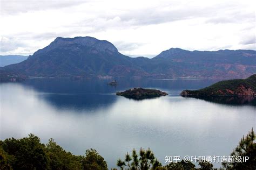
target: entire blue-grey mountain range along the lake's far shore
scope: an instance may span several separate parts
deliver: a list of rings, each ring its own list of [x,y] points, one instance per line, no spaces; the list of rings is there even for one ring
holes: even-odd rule
[[[170,48],[156,57],[131,58],[111,42],[92,37],[56,38],[2,73],[51,77],[245,78],[256,73],[256,51],[186,51]]]

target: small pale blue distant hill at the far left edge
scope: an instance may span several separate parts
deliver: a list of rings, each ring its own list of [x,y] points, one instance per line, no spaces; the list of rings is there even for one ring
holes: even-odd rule
[[[26,60],[28,56],[24,55],[0,55],[0,67],[12,65]]]

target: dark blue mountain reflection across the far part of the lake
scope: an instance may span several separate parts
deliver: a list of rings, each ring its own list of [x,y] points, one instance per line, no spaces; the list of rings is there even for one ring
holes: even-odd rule
[[[107,108],[116,102],[117,91],[134,87],[157,88],[171,96],[178,96],[186,88],[198,89],[213,83],[211,80],[150,80],[117,79],[117,86],[109,86],[110,80],[69,80],[69,79],[30,79],[22,86],[37,91],[42,98],[58,109],[99,109]]]

